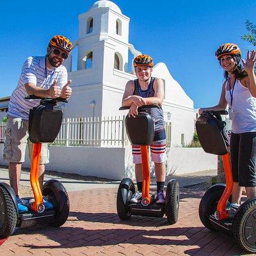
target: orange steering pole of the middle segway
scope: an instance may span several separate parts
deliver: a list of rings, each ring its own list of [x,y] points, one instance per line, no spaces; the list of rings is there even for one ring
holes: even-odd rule
[[[150,186],[150,167],[148,159],[148,146],[140,146],[141,149],[141,163],[142,163],[142,200],[141,204],[147,206],[150,204],[151,197],[149,195]]]

